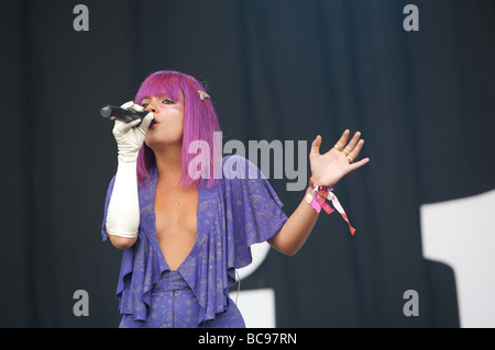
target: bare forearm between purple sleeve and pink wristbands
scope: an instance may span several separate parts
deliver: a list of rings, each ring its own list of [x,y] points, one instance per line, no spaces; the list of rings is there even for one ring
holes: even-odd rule
[[[314,194],[311,188],[309,188],[309,193]],[[319,213],[304,197],[278,233],[268,239],[268,242],[287,256],[296,255],[311,234],[318,215]]]

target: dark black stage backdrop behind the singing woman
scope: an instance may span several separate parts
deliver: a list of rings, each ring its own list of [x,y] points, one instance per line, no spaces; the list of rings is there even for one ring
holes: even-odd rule
[[[73,27],[78,3],[89,31]],[[418,32],[403,27],[408,3]],[[322,214],[298,255],[271,251],[242,283],[275,290],[277,327],[459,326],[452,269],[421,253],[419,205],[494,189],[495,2],[1,4],[0,326],[118,325],[121,251],[100,241],[116,144],[98,111],[161,69],[207,82],[224,140],[309,150],[321,134],[327,150],[346,127],[363,133],[371,162],[336,191],[355,236]],[[304,191],[287,181],[271,178],[290,214]],[[77,290],[87,317],[73,313]],[[403,313],[407,290],[417,317]]]

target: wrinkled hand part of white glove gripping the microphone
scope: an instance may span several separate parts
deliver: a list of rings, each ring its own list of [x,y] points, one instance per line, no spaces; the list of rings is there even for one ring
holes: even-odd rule
[[[121,108],[138,112],[144,111],[141,105],[134,104],[132,101],[122,104]],[[142,123],[141,120],[135,120],[130,123],[116,121],[112,133],[113,137],[116,137],[117,147],[119,149],[119,160],[132,162],[138,159],[138,153],[140,151],[141,146],[143,146],[144,136],[146,135],[153,117],[154,114],[150,112],[146,116],[144,116]],[[134,127],[140,123],[140,126]]]

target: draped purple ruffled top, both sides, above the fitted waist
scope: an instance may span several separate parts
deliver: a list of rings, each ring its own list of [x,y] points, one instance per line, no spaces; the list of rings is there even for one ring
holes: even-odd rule
[[[211,189],[199,189],[197,237],[178,272],[200,305],[199,323],[215,319],[229,304],[235,269],[251,263],[251,245],[273,237],[287,221],[282,202],[263,173],[239,156],[223,158],[222,178]],[[145,320],[153,285],[169,268],[156,237],[154,197],[156,168],[140,187],[140,230],[133,247],[124,250],[117,289],[120,313]],[[107,206],[113,188],[110,182]],[[106,214],[105,214],[106,215]],[[106,216],[102,224],[103,239]]]

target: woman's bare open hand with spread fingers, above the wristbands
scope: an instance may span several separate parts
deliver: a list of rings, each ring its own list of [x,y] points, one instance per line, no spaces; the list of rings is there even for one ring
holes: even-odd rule
[[[309,153],[309,163],[311,168],[312,180],[320,185],[331,185],[339,182],[349,172],[361,168],[370,158],[364,158],[360,161],[353,162],[363,147],[364,139],[361,139],[361,133],[358,132],[348,144],[348,138],[351,132],[346,129],[332,147],[326,154],[320,154],[321,136],[311,144]]]

